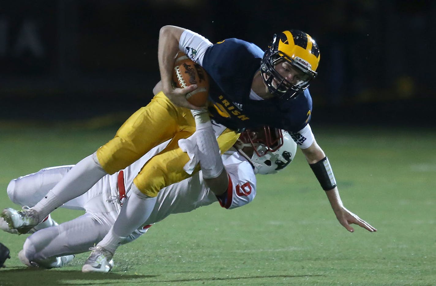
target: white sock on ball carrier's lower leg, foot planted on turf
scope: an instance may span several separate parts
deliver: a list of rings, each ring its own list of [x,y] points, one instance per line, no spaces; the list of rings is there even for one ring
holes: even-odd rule
[[[129,198],[106,236],[97,245],[114,253],[127,236],[140,228],[150,217],[156,204],[156,197],[148,197],[135,184],[130,186]]]

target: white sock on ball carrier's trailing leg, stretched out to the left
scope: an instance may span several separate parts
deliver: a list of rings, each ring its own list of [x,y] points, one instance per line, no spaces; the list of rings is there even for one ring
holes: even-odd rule
[[[78,162],[48,194],[32,208],[42,221],[54,209],[87,192],[107,173],[98,162],[96,152]]]

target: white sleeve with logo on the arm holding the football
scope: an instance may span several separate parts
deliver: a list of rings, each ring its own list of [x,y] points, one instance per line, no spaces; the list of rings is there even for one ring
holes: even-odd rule
[[[206,50],[212,45],[210,40],[191,30],[184,30],[179,40],[179,49],[201,66]]]

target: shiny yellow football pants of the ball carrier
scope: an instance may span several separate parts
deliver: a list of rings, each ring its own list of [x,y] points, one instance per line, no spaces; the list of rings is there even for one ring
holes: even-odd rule
[[[161,188],[192,176],[183,170],[189,157],[179,148],[178,140],[188,138],[194,132],[195,121],[191,111],[175,106],[163,92],[159,92],[149,104],[124,122],[112,140],[97,150],[97,158],[102,168],[113,174],[153,147],[172,139],[163,151],[146,162],[133,179],[143,194],[155,197]],[[221,154],[232,147],[238,137],[239,133],[225,129],[217,138]]]

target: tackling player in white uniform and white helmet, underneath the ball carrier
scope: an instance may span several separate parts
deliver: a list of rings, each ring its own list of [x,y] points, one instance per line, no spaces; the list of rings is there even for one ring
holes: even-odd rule
[[[234,209],[251,202],[256,195],[255,173],[270,174],[281,170],[292,161],[296,152],[296,143],[287,132],[282,133],[279,129],[271,132],[269,128],[261,131],[245,131],[238,145],[221,156],[228,175],[228,186],[223,194],[216,196],[211,192],[201,171],[191,178],[163,188],[157,196],[157,203],[150,217],[121,244],[138,238],[151,224],[172,213],[190,212],[217,201],[226,209]],[[27,266],[41,268],[62,267],[73,259],[73,254],[88,251],[109,232],[126,197],[130,195],[130,185],[140,168],[163,150],[167,143],[153,148],[124,170],[104,176],[88,192],[62,206],[85,210],[84,215],[60,225],[48,216],[31,231],[36,232],[26,239],[23,250],[19,253],[20,261]],[[183,142],[180,144],[183,145]],[[259,156],[259,153],[262,155]],[[267,165],[265,162],[271,164]],[[13,202],[32,206],[72,167],[44,168],[14,179],[8,185],[7,193]],[[7,232],[17,233],[14,229],[10,230],[2,219],[0,227]],[[91,271],[108,272],[113,262],[112,259],[107,260],[106,256],[100,256],[98,265],[99,267],[92,267]]]

